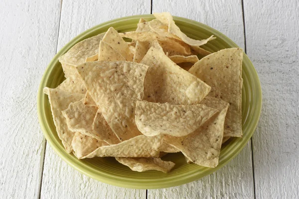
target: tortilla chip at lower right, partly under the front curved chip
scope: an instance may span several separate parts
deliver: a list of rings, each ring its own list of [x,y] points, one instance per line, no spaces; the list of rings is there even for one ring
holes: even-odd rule
[[[165,141],[179,149],[189,160],[204,167],[218,165],[223,138],[223,124],[229,104],[223,100],[207,97],[202,104],[218,109],[205,124],[193,133],[183,137],[165,135]]]

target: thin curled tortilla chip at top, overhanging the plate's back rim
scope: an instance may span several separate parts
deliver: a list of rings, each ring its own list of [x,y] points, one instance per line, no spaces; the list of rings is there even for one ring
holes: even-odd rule
[[[207,39],[203,39],[203,40],[195,40],[195,39],[189,38],[175,24],[175,22],[173,21],[172,16],[169,12],[153,13],[153,15],[159,21],[161,21],[161,23],[163,23],[165,25],[168,25],[168,32],[169,33],[176,35],[183,42],[185,42],[186,44],[188,44],[190,46],[202,46],[202,45],[206,44],[208,41],[216,39],[216,37],[214,37],[214,35],[210,36]]]

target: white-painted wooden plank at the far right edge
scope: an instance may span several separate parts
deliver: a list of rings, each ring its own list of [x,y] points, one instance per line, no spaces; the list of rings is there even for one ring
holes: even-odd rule
[[[263,108],[253,137],[257,199],[299,198],[299,2],[244,0]]]

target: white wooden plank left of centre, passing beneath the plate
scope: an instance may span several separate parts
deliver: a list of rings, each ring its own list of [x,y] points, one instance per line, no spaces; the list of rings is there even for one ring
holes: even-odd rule
[[[149,14],[150,0],[63,0],[58,49],[84,30],[122,16]],[[110,186],[90,179],[63,162],[47,145],[41,198],[146,198],[146,190]]]

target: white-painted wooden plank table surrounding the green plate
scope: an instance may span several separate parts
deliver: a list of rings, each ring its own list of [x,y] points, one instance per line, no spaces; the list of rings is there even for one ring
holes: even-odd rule
[[[245,49],[260,77],[257,130],[224,168],[199,181],[131,190],[90,179],[47,145],[36,95],[55,53],[114,18],[169,11],[205,23]],[[298,0],[0,0],[0,198],[298,199]]]

